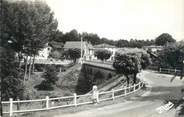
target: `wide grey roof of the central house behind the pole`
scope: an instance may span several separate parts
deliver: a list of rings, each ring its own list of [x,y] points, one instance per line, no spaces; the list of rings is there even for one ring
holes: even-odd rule
[[[86,41],[82,42],[83,46],[87,46],[88,48],[92,49],[93,46]],[[64,45],[65,49],[70,49],[70,48],[81,48],[81,41],[67,41]]]

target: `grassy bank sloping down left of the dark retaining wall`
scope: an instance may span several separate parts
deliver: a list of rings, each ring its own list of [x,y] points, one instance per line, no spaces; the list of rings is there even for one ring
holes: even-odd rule
[[[75,92],[75,87],[77,85],[78,74],[80,65],[74,65],[71,68],[68,68],[65,72],[58,74],[59,80],[57,85],[54,86],[52,91],[42,91],[37,90],[34,87],[39,85],[44,78],[42,78],[42,72],[34,73],[25,84],[25,97],[26,99],[40,99],[49,97],[60,97],[73,95]],[[75,68],[75,69],[74,69]]]

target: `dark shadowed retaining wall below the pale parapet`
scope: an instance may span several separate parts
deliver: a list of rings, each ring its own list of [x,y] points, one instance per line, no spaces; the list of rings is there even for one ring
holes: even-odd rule
[[[100,85],[105,80],[108,80],[116,75],[115,70],[83,64],[78,79],[78,85],[76,87],[77,94],[84,94],[92,89],[93,85]]]

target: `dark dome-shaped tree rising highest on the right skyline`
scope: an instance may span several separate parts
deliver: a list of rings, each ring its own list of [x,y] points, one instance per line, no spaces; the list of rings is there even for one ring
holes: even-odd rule
[[[174,43],[176,40],[168,33],[163,33],[155,39],[156,45],[165,45],[167,43]]]

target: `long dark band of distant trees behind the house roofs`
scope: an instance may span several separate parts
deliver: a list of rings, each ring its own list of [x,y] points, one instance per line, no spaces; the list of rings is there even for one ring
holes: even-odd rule
[[[97,34],[94,34],[94,33],[83,32],[82,34],[80,34],[75,29],[67,33],[62,33],[60,31],[57,31],[57,33],[54,35],[54,41],[62,42],[62,43],[65,43],[66,41],[80,41],[81,38],[83,38],[84,41],[90,42],[92,45],[106,43],[120,48],[122,47],[141,48],[143,46],[149,46],[149,45],[155,44],[154,40],[143,40],[143,39],[142,40],[130,39],[130,41],[120,39],[115,41],[104,37],[100,38]]]

